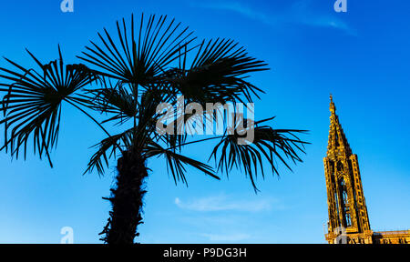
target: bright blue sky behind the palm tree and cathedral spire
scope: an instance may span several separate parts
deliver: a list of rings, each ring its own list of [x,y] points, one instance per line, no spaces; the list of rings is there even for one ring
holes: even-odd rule
[[[330,93],[359,156],[371,227],[408,229],[410,4],[347,2],[347,13],[335,13],[333,0],[74,0],[70,14],[57,0],[3,1],[0,55],[30,66],[24,48],[47,61],[56,59],[60,44],[75,63],[103,27],[144,12],[175,17],[199,38],[233,38],[269,63],[272,70],[252,76],[267,93],[255,103],[256,118],[277,116],[276,128],[310,130],[303,136],[312,143],[304,163],[293,172],[282,167],[280,178],[258,179],[255,195],[240,171],[215,181],[191,170],[189,187],[175,186],[161,159],[153,159],[141,243],[324,243]],[[75,243],[100,243],[110,209],[101,196],[113,185],[115,162],[104,177],[82,173],[93,154],[89,146],[102,137],[65,106],[54,168],[36,156],[12,161],[0,153],[0,243],[59,243],[62,227],[73,227]],[[210,148],[185,152],[203,160]]]

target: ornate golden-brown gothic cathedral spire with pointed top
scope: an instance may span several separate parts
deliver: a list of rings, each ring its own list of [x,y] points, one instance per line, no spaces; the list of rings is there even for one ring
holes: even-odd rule
[[[333,97],[330,97],[330,128],[326,157],[323,158],[327,187],[329,222],[326,239],[331,242],[335,230],[343,228],[347,235],[359,242],[372,236],[358,159],[343,133],[343,128],[336,115]],[[370,235],[364,237],[364,235]],[[367,241],[365,241],[367,242]]]

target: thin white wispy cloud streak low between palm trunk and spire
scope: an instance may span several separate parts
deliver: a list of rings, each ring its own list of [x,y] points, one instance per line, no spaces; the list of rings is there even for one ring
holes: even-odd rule
[[[271,210],[273,204],[276,204],[278,201],[274,199],[238,200],[234,199],[234,197],[220,195],[207,196],[190,201],[182,201],[179,197],[176,197],[174,202],[179,208],[200,212],[261,212]]]

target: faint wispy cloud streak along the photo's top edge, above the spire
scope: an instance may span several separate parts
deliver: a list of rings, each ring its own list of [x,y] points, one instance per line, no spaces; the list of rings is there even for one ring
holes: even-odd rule
[[[356,35],[354,28],[347,25],[342,19],[336,17],[336,13],[329,8],[329,12],[323,14],[315,12],[312,8],[312,0],[297,1],[288,8],[280,10],[271,10],[272,14],[265,11],[252,8],[250,5],[244,5],[239,1],[222,1],[222,2],[205,2],[197,3],[190,1],[190,5],[196,5],[202,8],[235,12],[253,20],[260,21],[266,25],[309,25],[314,27],[334,28],[343,31],[347,35]],[[327,5],[323,3],[323,5]],[[329,4],[329,6],[333,6]]]

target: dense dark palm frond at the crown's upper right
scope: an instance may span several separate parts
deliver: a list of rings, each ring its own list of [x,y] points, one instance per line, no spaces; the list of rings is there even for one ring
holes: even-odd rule
[[[203,41],[190,68],[186,66],[188,53],[179,57],[178,68],[168,72],[170,85],[188,102],[244,102],[243,97],[251,101],[251,96],[263,93],[245,79],[250,73],[268,70],[267,64],[249,56],[233,40]]]

